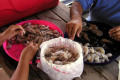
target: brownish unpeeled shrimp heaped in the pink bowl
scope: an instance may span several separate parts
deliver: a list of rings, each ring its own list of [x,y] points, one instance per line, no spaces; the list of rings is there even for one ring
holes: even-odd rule
[[[8,40],[7,49],[10,49],[12,47],[11,44],[23,43],[24,46],[26,46],[30,41],[38,43],[40,38],[42,38],[41,40],[44,42],[61,36],[61,34],[57,30],[51,30],[49,29],[49,26],[46,25],[32,25],[31,23],[25,23],[24,25],[22,25],[22,27],[25,30],[25,34],[23,36],[18,34]]]

